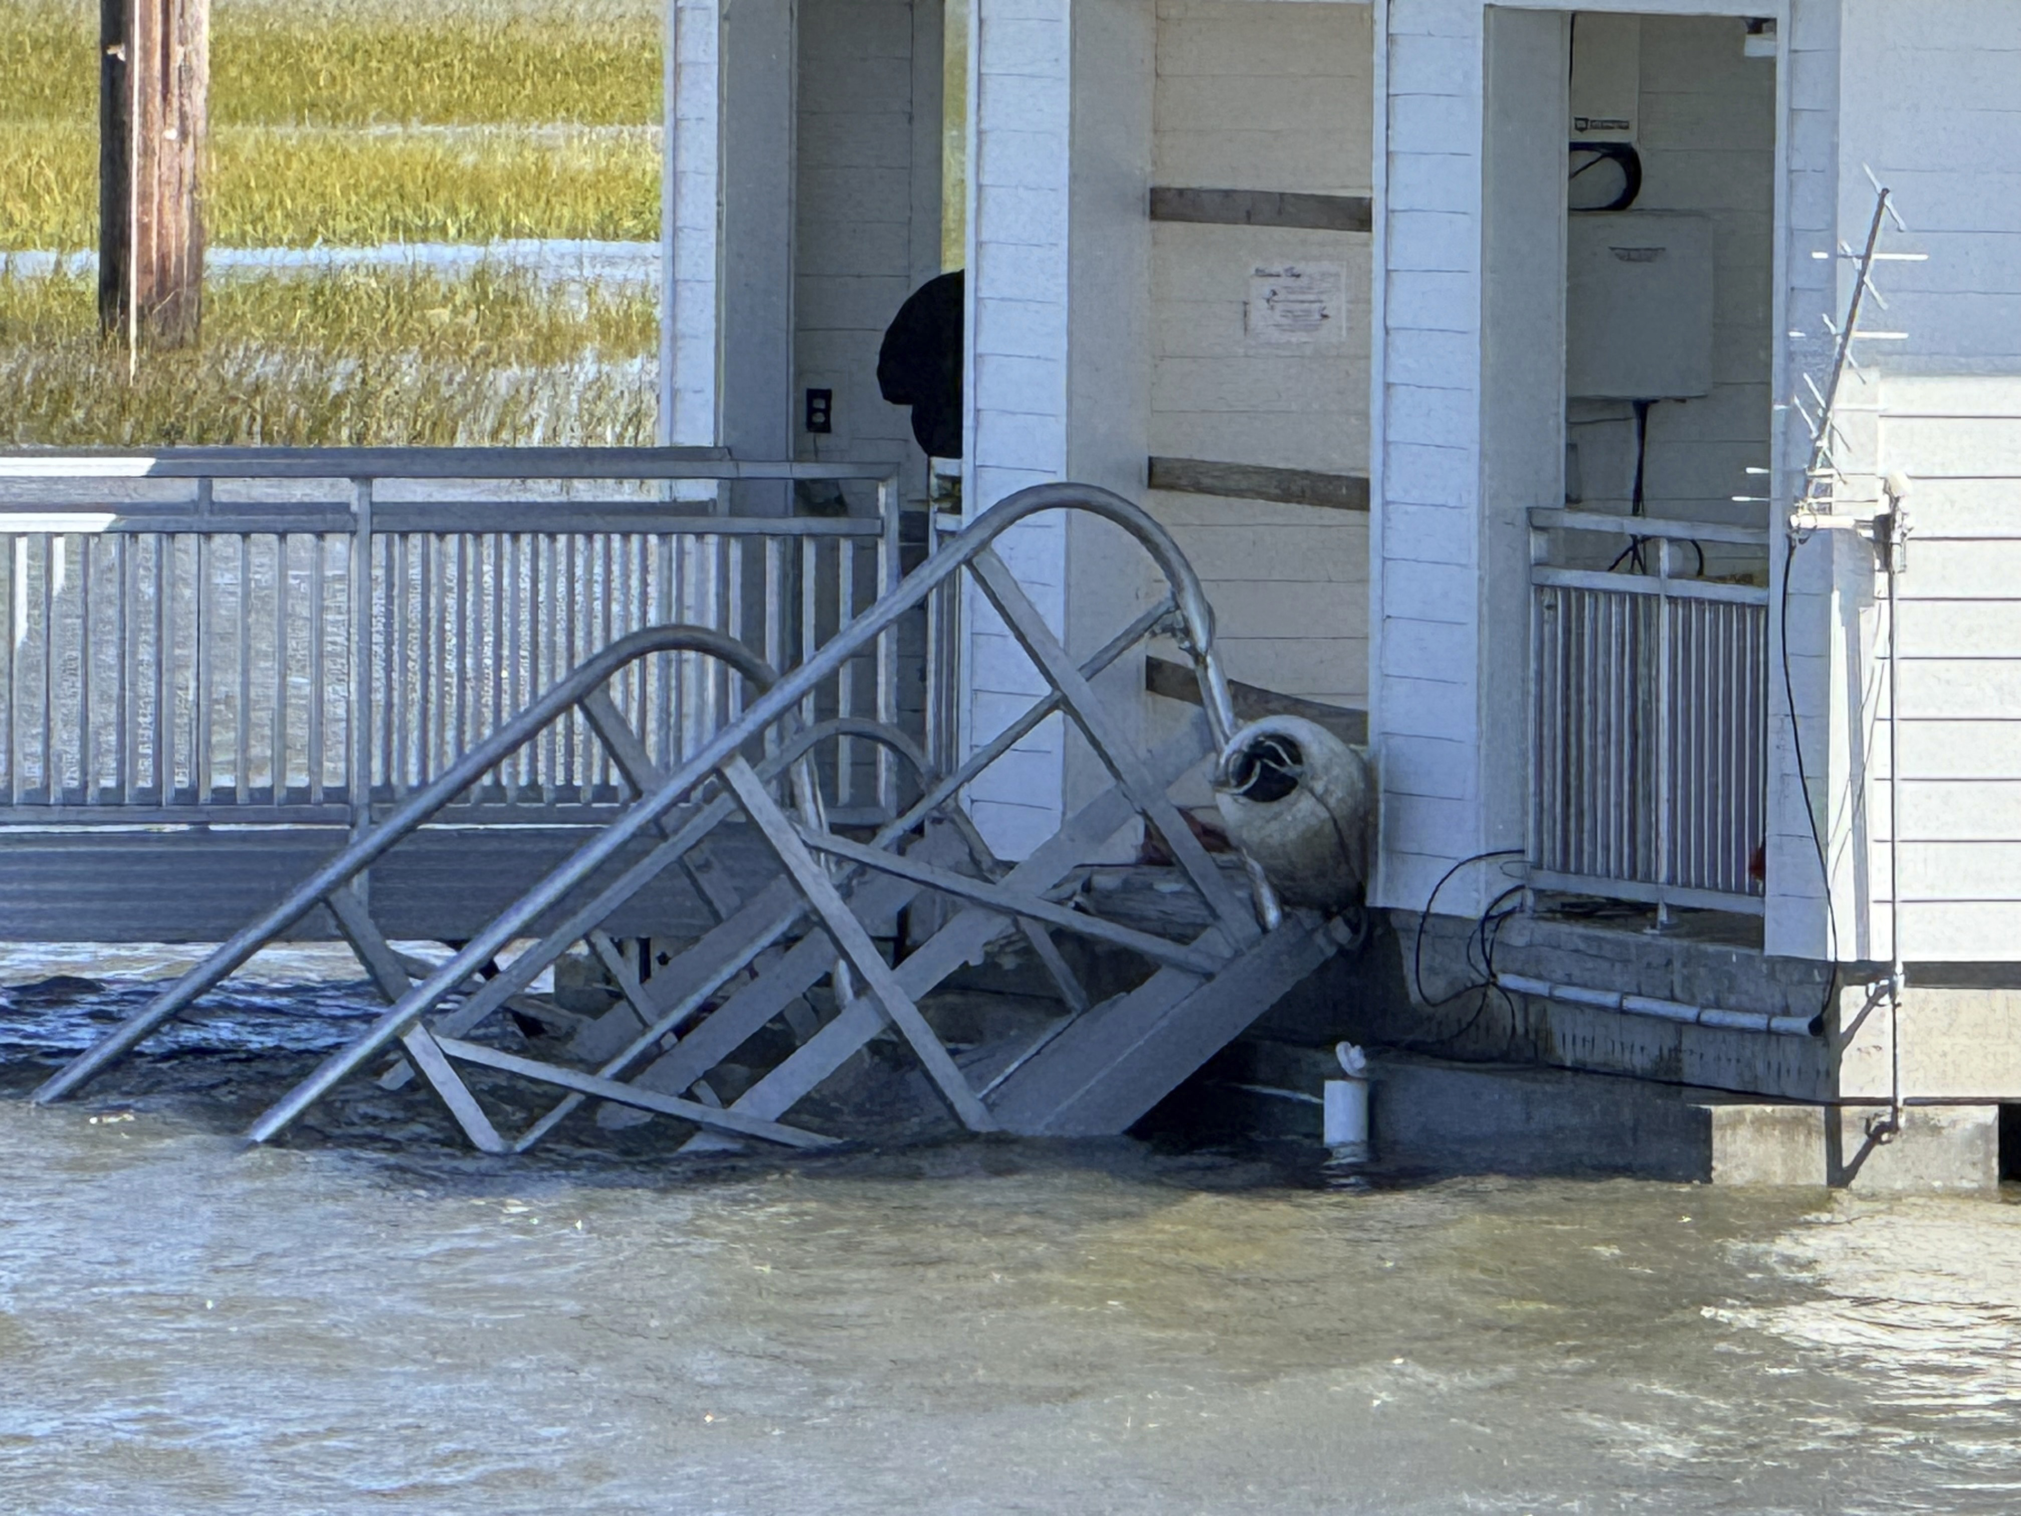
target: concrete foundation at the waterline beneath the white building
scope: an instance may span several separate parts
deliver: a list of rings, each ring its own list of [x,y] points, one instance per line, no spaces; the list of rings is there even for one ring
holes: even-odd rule
[[[1154,869],[1091,883],[1105,914],[1190,936],[1205,918]],[[1136,914],[1130,914],[1132,902]],[[1916,964],[1900,1017],[1869,1007],[1880,972],[1772,958],[1760,922],[1647,912],[1514,916],[1481,940],[1473,922],[1392,914],[1281,999],[1154,1116],[1186,1132],[1320,1144],[1332,1047],[1374,1055],[1376,1162],[1399,1174],[1633,1174],[1712,1185],[1859,1191],[1993,1191],[2021,1170],[2021,988],[2011,968]],[[1483,954],[1483,946],[1487,954]],[[1653,1015],[1481,990],[1496,972],[1550,984],[1778,1017],[1795,1031],[1690,1025]],[[1013,986],[1015,964],[990,982]],[[1108,994],[1099,962],[1083,968]],[[1035,1003],[1047,984],[1025,966]],[[1807,1031],[1815,1027],[1815,1031]],[[1875,1140],[1902,1039],[1904,1130]]]

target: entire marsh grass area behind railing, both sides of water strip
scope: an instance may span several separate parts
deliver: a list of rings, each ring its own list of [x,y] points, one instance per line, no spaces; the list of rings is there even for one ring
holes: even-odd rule
[[[659,0],[214,0],[214,247],[659,234]],[[97,4],[0,0],[0,251],[97,245]],[[212,277],[129,370],[83,279],[0,277],[0,447],[645,443],[651,291]]]

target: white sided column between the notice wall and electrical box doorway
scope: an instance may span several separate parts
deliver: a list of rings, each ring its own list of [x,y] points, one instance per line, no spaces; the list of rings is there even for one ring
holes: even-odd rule
[[[1477,0],[1376,6],[1368,736],[1382,782],[1374,904],[1405,910],[1483,851],[1483,42]],[[1508,752],[1520,762],[1520,744]],[[1483,881],[1461,885],[1441,912],[1471,914]]]

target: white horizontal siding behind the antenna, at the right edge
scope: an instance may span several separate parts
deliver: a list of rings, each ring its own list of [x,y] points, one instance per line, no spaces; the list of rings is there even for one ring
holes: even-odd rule
[[[1849,424],[1859,477],[1912,479],[1902,578],[1902,893],[1910,960],[2021,960],[2021,6],[2001,0],[1845,0],[1841,24],[1839,236],[1863,232],[1873,194],[1894,190],[1908,232],[1890,247],[1869,344],[1878,406]],[[1795,249],[1793,249],[1795,251]],[[1871,471],[1871,473],[1869,473]],[[1859,544],[1837,556],[1837,608],[1821,584],[1793,600],[1835,661],[1799,653],[1799,693],[1853,689],[1833,724],[1841,934],[1886,956],[1888,724],[1875,639],[1882,584]],[[1827,669],[1839,669],[1829,675]],[[1849,677],[1851,673],[1851,677]],[[1813,865],[1815,877],[1815,865]]]

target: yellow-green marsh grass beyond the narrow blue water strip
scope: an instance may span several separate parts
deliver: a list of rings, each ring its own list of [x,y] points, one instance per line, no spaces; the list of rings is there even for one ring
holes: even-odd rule
[[[637,0],[222,0],[220,247],[659,234],[659,16]],[[97,8],[0,0],[0,249],[97,239]]]

